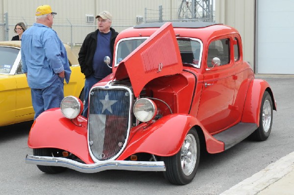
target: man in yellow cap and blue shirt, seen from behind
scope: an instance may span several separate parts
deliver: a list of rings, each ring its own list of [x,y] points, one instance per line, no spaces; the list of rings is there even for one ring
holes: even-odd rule
[[[54,15],[50,5],[36,10],[36,22],[22,36],[23,72],[31,88],[34,120],[49,108],[60,107],[64,98],[64,80],[70,80],[67,53],[57,33],[51,28]]]

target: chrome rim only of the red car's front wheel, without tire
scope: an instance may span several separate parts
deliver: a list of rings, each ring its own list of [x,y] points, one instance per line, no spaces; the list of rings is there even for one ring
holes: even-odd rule
[[[181,149],[181,167],[185,175],[190,175],[196,164],[197,144],[192,134],[188,134]]]

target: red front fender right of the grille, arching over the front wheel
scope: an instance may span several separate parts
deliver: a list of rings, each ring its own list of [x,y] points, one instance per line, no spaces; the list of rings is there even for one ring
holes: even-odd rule
[[[205,130],[200,122],[187,114],[171,114],[147,126],[142,124],[131,130],[127,147],[118,160],[124,160],[132,154],[146,152],[158,156],[172,156],[179,152],[188,131],[200,126],[207,149],[211,153],[223,151],[224,145]],[[213,147],[213,148],[212,148]]]

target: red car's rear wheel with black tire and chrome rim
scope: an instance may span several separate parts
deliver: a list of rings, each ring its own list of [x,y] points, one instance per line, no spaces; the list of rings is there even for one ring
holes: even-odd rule
[[[272,100],[268,91],[265,91],[262,97],[259,117],[259,127],[251,134],[251,138],[265,141],[270,136],[272,125]]]

